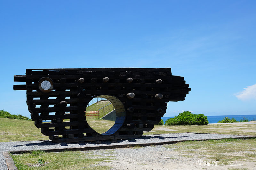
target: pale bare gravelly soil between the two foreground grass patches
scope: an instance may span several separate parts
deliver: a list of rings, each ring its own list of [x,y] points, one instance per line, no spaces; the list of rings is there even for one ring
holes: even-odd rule
[[[116,160],[112,162],[101,162],[98,165],[111,166],[112,170],[193,170],[193,169],[210,169],[210,170],[228,170],[228,169],[256,169],[255,162],[234,161],[223,163],[209,162],[206,159],[198,158],[198,154],[180,155],[179,152],[166,149],[164,146],[148,146],[138,149],[125,148],[113,150],[113,156]],[[232,153],[237,155],[238,153]]]

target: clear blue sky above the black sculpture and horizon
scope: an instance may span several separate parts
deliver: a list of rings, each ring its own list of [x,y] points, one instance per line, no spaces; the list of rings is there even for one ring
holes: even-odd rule
[[[0,109],[30,116],[27,68],[171,67],[164,117],[256,114],[256,1],[0,1]]]

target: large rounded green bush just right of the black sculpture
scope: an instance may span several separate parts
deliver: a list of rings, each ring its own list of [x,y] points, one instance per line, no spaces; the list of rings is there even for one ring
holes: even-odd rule
[[[164,125],[207,125],[208,123],[208,119],[204,114],[196,115],[186,111],[167,119]]]

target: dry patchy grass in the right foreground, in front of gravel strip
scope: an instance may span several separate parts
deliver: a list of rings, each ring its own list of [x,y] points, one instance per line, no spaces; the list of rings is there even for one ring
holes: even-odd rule
[[[252,139],[221,139],[207,141],[185,141],[177,144],[165,145],[189,157],[215,160],[224,165],[229,161],[256,162],[256,138]],[[200,155],[199,155],[200,154]],[[184,157],[187,157],[184,155]]]

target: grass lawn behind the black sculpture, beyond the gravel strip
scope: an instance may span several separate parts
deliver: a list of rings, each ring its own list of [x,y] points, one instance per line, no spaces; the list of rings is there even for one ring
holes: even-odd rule
[[[44,136],[40,129],[37,129],[33,121],[16,120],[0,118],[0,142],[9,141],[32,141],[32,140],[49,140]],[[256,122],[256,121],[252,121]],[[110,129],[114,121],[107,120],[88,120],[88,123],[99,133],[104,133]],[[163,133],[182,133],[182,132],[199,132],[199,133],[221,133],[234,135],[256,135],[255,124],[209,124],[204,126],[159,126],[150,132],[144,132],[145,135],[163,134]]]

